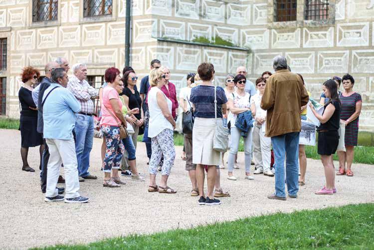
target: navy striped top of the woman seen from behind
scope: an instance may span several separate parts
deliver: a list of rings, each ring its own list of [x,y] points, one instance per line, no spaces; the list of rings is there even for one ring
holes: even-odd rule
[[[217,87],[217,118],[222,118],[222,104],[227,98],[222,87]],[[189,101],[194,104],[194,115],[200,118],[214,118],[214,86],[198,85],[191,89]]]

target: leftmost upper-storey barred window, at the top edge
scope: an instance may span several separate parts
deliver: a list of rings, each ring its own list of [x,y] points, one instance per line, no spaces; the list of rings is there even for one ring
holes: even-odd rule
[[[58,0],[32,0],[32,21],[57,20]]]

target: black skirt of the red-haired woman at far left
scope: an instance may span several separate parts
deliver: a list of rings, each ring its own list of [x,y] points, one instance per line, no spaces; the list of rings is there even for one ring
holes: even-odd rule
[[[21,147],[29,148],[43,144],[43,137],[36,131],[37,116],[23,116],[19,118],[19,130],[21,131]]]

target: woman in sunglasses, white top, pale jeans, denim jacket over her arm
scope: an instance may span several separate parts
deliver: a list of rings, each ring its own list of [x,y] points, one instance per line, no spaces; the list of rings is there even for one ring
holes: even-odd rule
[[[239,141],[241,137],[241,130],[235,127],[236,118],[238,114],[251,111],[252,116],[256,115],[256,105],[254,102],[250,101],[251,96],[249,93],[245,92],[245,83],[247,79],[244,75],[238,74],[234,78],[234,83],[236,86],[236,91],[228,99],[228,108],[230,109],[232,116],[230,118],[230,132],[231,132],[231,145],[230,153],[228,155],[228,178],[229,180],[235,181],[236,177],[233,176],[232,171],[234,168],[235,155],[238,152]],[[244,155],[245,155],[245,179],[253,180],[253,176],[250,174],[251,158],[252,158],[252,129],[250,128],[247,132],[246,137],[244,137]]]

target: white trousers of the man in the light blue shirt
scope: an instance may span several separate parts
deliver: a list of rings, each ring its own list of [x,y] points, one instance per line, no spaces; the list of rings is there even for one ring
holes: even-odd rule
[[[47,172],[46,197],[58,195],[56,185],[60,175],[61,164],[64,164],[65,173],[65,198],[75,198],[79,196],[78,163],[75,154],[74,139],[59,140],[46,139],[49,148],[49,161]]]

